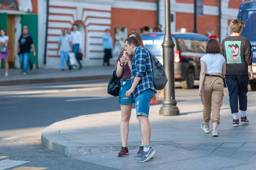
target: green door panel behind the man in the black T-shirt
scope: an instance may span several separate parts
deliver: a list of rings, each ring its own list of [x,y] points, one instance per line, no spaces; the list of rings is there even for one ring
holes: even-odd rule
[[[22,15],[21,16],[21,32],[23,32],[23,26],[28,26],[29,33],[33,36],[33,42],[35,45],[36,57],[33,57],[33,53],[30,53],[30,59],[36,68],[38,68],[38,15]]]

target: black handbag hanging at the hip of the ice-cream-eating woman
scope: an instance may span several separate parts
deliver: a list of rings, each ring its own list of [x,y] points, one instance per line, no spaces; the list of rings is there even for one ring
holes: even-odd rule
[[[108,82],[108,94],[114,97],[119,96],[120,80],[121,77],[117,77],[116,70],[113,71],[113,75]]]

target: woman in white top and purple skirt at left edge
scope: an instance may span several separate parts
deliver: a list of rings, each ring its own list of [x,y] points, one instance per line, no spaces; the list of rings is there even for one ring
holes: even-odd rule
[[[8,40],[9,37],[6,35],[6,30],[1,29],[1,36],[0,36],[0,68],[1,68],[1,61],[4,59],[5,63],[5,77],[8,76],[8,69],[9,69],[9,62],[8,62],[8,57],[9,57],[9,51],[8,51]],[[6,47],[6,48],[3,48]]]

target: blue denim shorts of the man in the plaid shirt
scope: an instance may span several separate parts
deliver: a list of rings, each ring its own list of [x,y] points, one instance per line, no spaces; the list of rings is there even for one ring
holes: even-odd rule
[[[147,116],[148,118],[150,101],[153,96],[154,91],[151,89],[147,89],[143,91],[140,96],[137,96],[137,98],[135,99],[137,119],[139,115]]]

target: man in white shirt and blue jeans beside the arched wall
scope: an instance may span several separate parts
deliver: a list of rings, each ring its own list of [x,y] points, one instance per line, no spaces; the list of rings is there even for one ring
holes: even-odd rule
[[[81,32],[79,30],[77,30],[78,27],[75,24],[73,26],[73,31],[70,33],[70,35],[72,36],[72,44],[73,44],[73,53],[76,54],[78,53],[79,50],[81,50],[81,42],[82,42],[82,35]],[[79,63],[79,69],[82,68],[81,62],[79,59],[76,59],[77,62]]]

